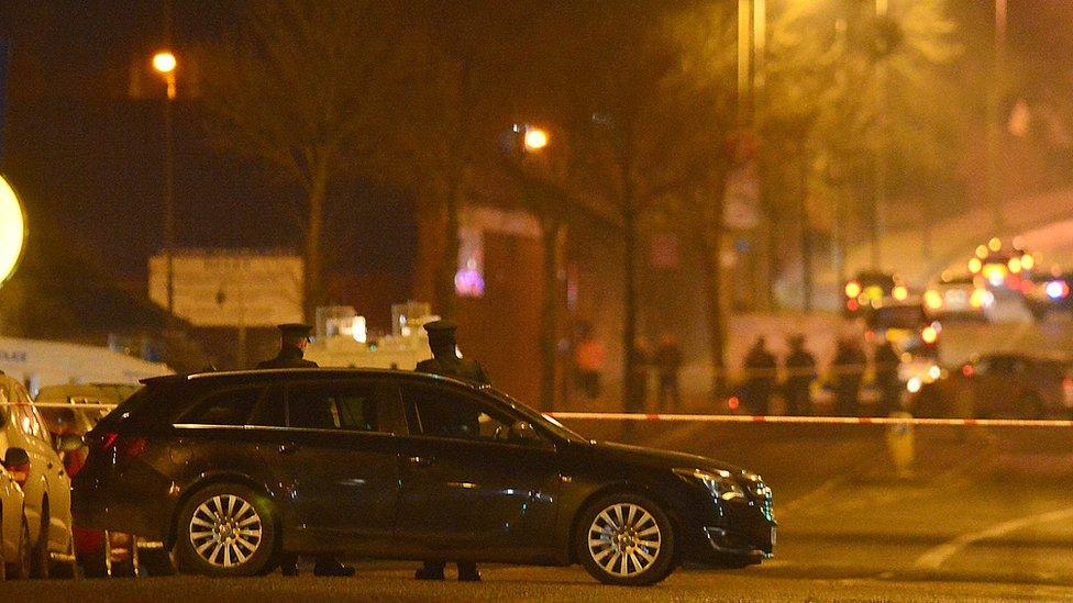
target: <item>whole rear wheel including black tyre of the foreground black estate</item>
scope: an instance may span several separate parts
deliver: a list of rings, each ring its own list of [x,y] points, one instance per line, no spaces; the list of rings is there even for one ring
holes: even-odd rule
[[[276,545],[265,496],[231,483],[195,493],[179,513],[176,535],[179,567],[207,576],[255,576]]]

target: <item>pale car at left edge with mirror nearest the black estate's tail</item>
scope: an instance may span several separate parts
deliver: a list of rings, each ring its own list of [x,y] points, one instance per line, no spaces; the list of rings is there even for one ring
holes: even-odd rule
[[[59,448],[80,446],[62,438]],[[22,480],[23,513],[31,543],[31,574],[47,578],[55,569],[74,573],[70,479],[26,388],[0,373],[0,455]],[[23,477],[24,476],[24,477]]]

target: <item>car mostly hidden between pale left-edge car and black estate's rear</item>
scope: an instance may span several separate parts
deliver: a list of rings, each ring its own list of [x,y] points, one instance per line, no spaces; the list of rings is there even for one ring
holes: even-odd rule
[[[107,406],[119,405],[139,388],[141,386],[130,383],[46,386],[37,392],[35,403],[53,438],[60,435],[81,438],[111,411]],[[81,470],[88,454],[86,446],[64,454],[64,467],[70,478]],[[73,532],[75,557],[82,574],[88,578],[175,573],[172,559],[161,543],[137,539],[122,532],[90,529],[77,523]]]

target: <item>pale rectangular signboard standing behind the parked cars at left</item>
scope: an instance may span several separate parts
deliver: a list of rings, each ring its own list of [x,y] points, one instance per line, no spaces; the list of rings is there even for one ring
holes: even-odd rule
[[[180,250],[172,259],[175,314],[195,326],[302,322],[303,263],[289,254]],[[167,308],[167,261],[150,258],[150,299]]]

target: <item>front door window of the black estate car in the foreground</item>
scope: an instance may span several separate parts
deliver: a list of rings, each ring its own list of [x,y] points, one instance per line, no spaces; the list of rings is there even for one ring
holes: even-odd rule
[[[493,416],[476,400],[452,390],[403,383],[402,402],[409,411],[410,432],[432,437],[474,440],[507,440],[511,421]]]

